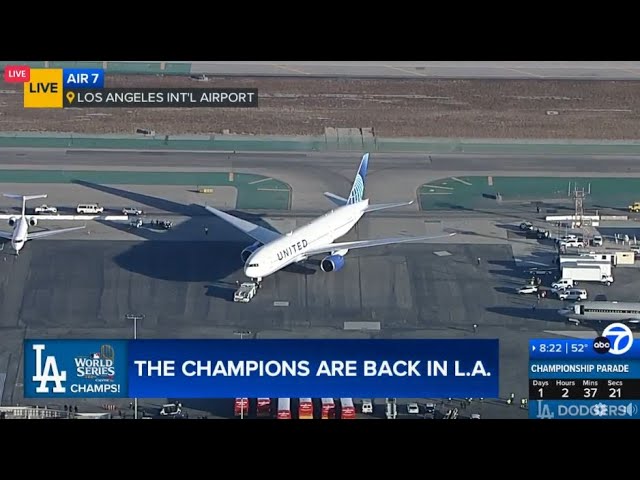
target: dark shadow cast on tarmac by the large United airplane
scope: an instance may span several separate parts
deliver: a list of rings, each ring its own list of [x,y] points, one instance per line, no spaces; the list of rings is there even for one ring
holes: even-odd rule
[[[111,228],[126,231],[148,240],[135,244],[126,252],[117,255],[114,260],[120,268],[159,280],[207,282],[205,295],[228,301],[233,300],[233,292],[237,288],[236,278],[230,277],[237,275],[242,281],[247,280],[242,273],[243,264],[240,253],[254,240],[245,237],[237,229],[207,212],[201,205],[184,205],[82,180],[74,180],[73,183],[125,198],[143,210],[145,207],[150,207],[162,210],[167,215],[188,217],[186,221],[174,226],[171,230],[162,232],[144,227],[135,228],[128,224],[100,221]],[[273,230],[273,227],[263,220],[263,215],[237,211],[229,211],[228,213]],[[162,214],[157,217],[161,218]],[[178,238],[181,236],[184,238],[184,235],[189,231],[202,231],[203,218],[206,218],[207,225],[210,226],[207,237],[203,233],[203,240],[207,238],[213,241],[176,240],[167,242],[160,240],[160,235],[175,235]],[[245,237],[246,240],[241,240],[242,237]],[[216,238],[237,240],[216,241]],[[317,271],[317,268],[312,267],[317,267],[318,264],[319,262],[310,260],[292,265],[284,271],[312,275]]]

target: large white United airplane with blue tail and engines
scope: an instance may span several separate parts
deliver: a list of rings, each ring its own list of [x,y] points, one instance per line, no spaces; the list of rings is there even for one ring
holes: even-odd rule
[[[403,203],[369,204],[369,199],[363,198],[368,166],[369,154],[366,153],[360,162],[349,196],[343,198],[325,192],[325,197],[338,207],[286,234],[255,225],[208,205],[204,205],[204,208],[255,240],[255,243],[242,250],[240,257],[244,263],[244,274],[258,286],[265,277],[315,255],[328,254],[320,262],[320,269],[323,272],[337,272],[344,267],[344,257],[352,249],[418,242],[455,235],[450,233],[436,237],[397,237],[333,243],[347,234],[365,213],[413,203],[412,200]]]

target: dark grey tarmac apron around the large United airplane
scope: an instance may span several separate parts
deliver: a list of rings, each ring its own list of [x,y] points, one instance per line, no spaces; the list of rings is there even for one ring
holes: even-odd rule
[[[12,153],[0,151],[0,162],[11,165],[6,162]],[[69,159],[76,162],[74,168],[77,164],[104,168],[107,159],[108,163],[126,159],[134,168],[155,170],[170,167],[171,162],[173,168],[184,162],[183,169],[204,162],[201,155],[180,153],[156,159],[132,153],[106,157],[102,152],[21,153],[26,165],[39,168],[50,168],[56,162],[59,168],[69,168],[71,165],[65,163]],[[212,157],[208,168],[224,170],[225,159]],[[254,221],[280,230],[295,228],[329,208],[323,191],[345,194],[358,160],[352,155],[335,155],[318,168],[316,157],[238,157],[241,168],[248,173],[265,174],[292,186],[291,211],[250,214]],[[463,155],[449,160],[452,169],[472,164],[472,159]],[[496,169],[494,173],[508,171],[518,162],[538,170],[551,165],[544,158],[537,162],[507,158],[502,159],[501,169],[500,160],[487,160]],[[376,157],[370,164],[370,196],[376,202],[414,198],[425,178],[455,175],[425,168],[423,161],[415,156]],[[580,161],[587,165],[582,172],[592,175],[588,166],[597,163],[595,159],[568,158],[561,168]],[[612,158],[609,166],[616,168],[618,162],[627,161],[626,157]],[[392,165],[393,169],[387,169]],[[0,399],[3,404],[31,403],[22,398],[24,338],[131,338],[132,326],[125,315],[142,313],[145,318],[138,325],[141,338],[233,338],[240,332],[250,332],[248,335],[254,338],[499,338],[501,364],[509,366],[501,370],[501,399],[485,400],[481,406],[473,404],[466,414],[477,410],[483,418],[525,418],[526,411],[507,407],[505,400],[511,392],[516,398],[527,395],[529,339],[553,336],[556,331],[585,331],[566,326],[556,313],[561,302],[545,300],[534,309],[535,298],[514,293],[527,278],[527,265],[551,264],[553,248],[549,243],[521,237],[517,225],[522,216],[510,215],[508,208],[483,216],[473,211],[420,212],[412,205],[385,215],[372,214],[345,240],[398,233],[437,235],[454,231],[457,235],[446,244],[435,239],[353,251],[345,268],[335,274],[318,271],[317,260],[311,261],[269,277],[251,303],[235,304],[235,282],[243,279],[240,251],[251,241],[207,215],[180,187],[147,185],[140,193],[141,187],[135,185],[1,184],[0,191],[16,192],[25,187],[32,193],[51,193],[47,201],[53,205],[74,205],[79,192],[84,192],[84,199],[99,199],[106,208],[135,203],[151,209],[145,220],[167,217],[175,225],[169,231],[156,231],[146,226],[133,229],[91,222],[87,232],[29,242],[19,257],[8,250],[0,252],[0,374],[6,374]],[[209,201],[214,206],[233,208],[233,192],[214,194]],[[6,199],[0,203],[1,209],[14,207]],[[47,222],[46,227],[56,228],[60,226],[57,223]],[[594,287],[593,295],[634,299],[636,270],[619,269],[616,284],[602,293],[598,289],[605,287]],[[346,330],[345,323],[354,321],[379,322],[380,329]],[[165,401],[145,401],[145,408],[155,408]],[[87,401],[81,406],[86,411],[100,404],[99,400]],[[118,407],[126,410],[127,404],[128,400],[123,400]],[[228,416],[231,412],[228,401],[184,404],[192,409],[192,416],[196,412]]]

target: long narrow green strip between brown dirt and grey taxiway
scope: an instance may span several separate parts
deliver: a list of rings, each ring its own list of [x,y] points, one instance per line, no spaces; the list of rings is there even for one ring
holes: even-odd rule
[[[475,153],[554,155],[640,155],[640,142],[563,140],[484,140],[449,138],[379,138],[340,142],[338,136],[240,136],[240,135],[80,135],[0,132],[0,147],[194,150],[215,152],[380,152],[380,153]]]

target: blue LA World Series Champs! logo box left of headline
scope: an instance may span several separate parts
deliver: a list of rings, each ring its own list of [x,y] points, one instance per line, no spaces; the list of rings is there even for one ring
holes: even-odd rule
[[[26,398],[119,397],[124,393],[119,377],[125,369],[119,365],[123,359],[118,362],[117,345],[57,340],[29,342],[26,347]]]

